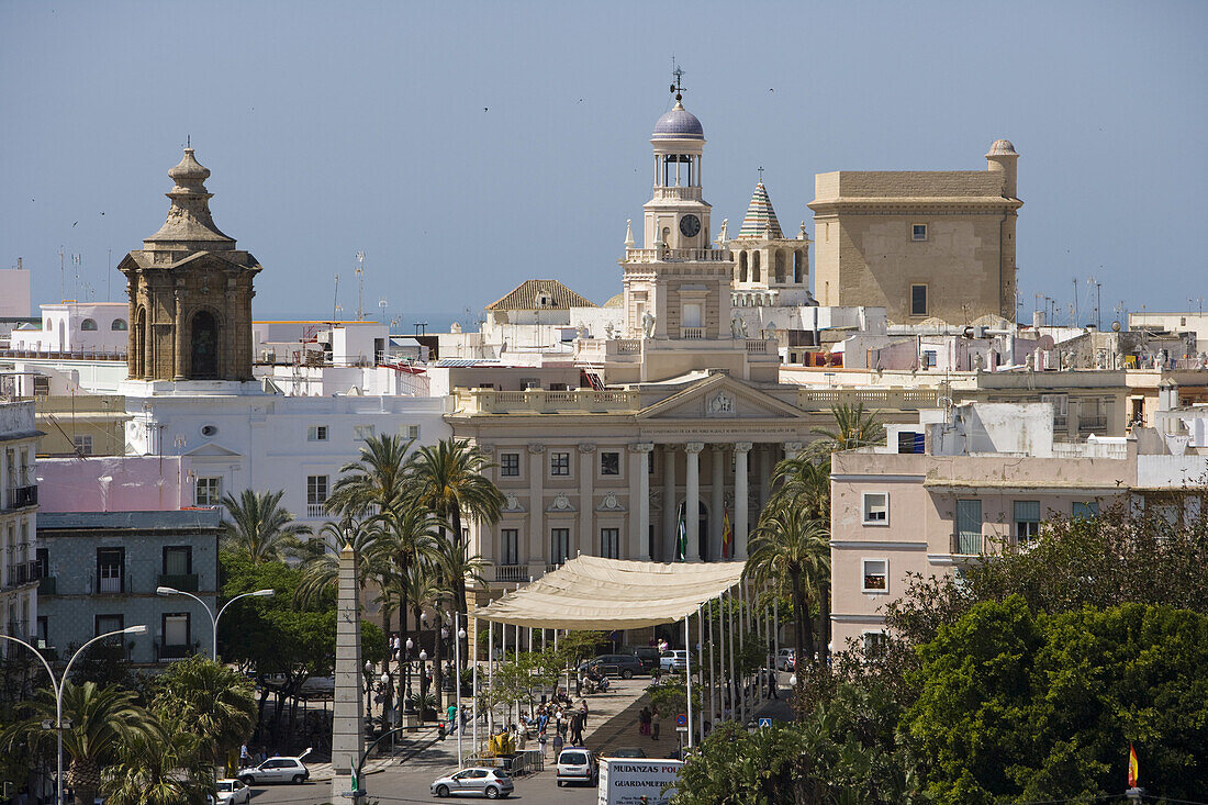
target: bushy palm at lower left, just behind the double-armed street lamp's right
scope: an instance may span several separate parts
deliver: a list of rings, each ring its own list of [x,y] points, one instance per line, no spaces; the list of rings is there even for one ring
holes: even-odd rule
[[[163,720],[187,724],[202,739],[202,759],[219,765],[251,732],[256,696],[251,681],[236,671],[191,656],[156,681],[152,710]]]

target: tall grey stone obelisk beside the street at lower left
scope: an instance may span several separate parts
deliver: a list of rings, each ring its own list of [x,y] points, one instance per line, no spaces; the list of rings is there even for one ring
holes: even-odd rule
[[[336,602],[336,701],[331,724],[331,764],[336,776],[331,780],[332,803],[348,798],[353,789],[354,766],[365,749],[362,701],[356,552],[345,543],[339,551],[339,595]]]

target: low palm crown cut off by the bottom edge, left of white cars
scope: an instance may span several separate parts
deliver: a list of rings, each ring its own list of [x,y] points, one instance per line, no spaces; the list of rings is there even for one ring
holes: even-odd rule
[[[198,732],[201,732],[198,730]],[[203,805],[217,792],[205,739],[184,718],[168,718],[159,736],[138,735],[122,743],[105,770],[101,790],[109,805]],[[79,801],[79,800],[77,800]],[[92,801],[92,800],[89,800]]]

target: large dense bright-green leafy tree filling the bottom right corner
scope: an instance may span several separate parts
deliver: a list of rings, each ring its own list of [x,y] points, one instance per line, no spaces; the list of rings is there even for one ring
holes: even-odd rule
[[[982,602],[919,649],[904,722],[940,803],[1119,792],[1132,742],[1154,794],[1208,789],[1208,618],[1123,604],[1034,616]]]

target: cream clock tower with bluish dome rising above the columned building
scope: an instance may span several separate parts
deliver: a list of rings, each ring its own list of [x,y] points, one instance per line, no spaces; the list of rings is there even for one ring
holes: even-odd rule
[[[675,105],[655,123],[654,196],[643,207],[643,245],[626,236],[625,302],[628,337],[701,341],[732,337],[728,249],[713,248],[701,195],[704,127],[684,108],[683,71],[675,69]]]

